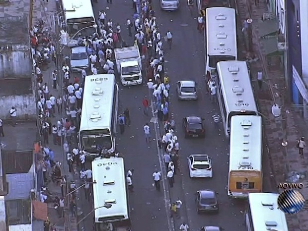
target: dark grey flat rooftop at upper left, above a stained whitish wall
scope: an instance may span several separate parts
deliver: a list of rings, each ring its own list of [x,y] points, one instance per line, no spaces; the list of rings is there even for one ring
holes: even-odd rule
[[[0,17],[0,49],[9,45],[30,46],[26,17]]]

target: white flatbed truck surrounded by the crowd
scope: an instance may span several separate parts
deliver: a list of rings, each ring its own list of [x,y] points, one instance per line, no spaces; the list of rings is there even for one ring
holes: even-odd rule
[[[142,63],[138,46],[116,48],[114,56],[123,86],[142,83]]]

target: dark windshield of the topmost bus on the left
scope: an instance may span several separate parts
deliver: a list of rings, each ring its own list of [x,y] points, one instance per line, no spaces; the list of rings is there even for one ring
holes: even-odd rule
[[[78,31],[79,31],[78,34],[81,34],[82,37],[93,35],[96,32],[96,29],[92,27],[95,24],[95,22],[93,21],[89,21],[89,22],[87,21],[79,22],[78,20],[77,21],[70,20],[70,21],[71,22],[69,22],[69,20],[67,21],[68,33],[70,36],[75,35]],[[82,29],[82,28],[85,28],[85,29]]]

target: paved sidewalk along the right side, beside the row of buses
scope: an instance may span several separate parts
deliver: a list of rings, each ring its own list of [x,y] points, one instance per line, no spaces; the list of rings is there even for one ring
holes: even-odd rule
[[[268,12],[267,5],[264,1],[260,1],[259,6],[256,7],[253,0],[237,0],[237,7],[240,16],[239,22],[244,21],[247,17],[252,18],[253,22],[257,22],[257,20],[262,18],[264,12]],[[263,44],[261,44],[259,39],[257,23],[252,23],[252,25],[254,45],[253,50],[257,54],[260,51],[263,60],[265,60],[265,52]],[[263,77],[265,77],[264,73],[267,72],[268,74],[264,79],[268,83],[267,88],[272,87],[272,85],[275,83],[280,86],[284,85],[284,70],[280,67],[279,64],[271,65],[270,67],[267,65],[264,66],[264,63],[262,64],[260,60],[251,64],[251,75],[253,79],[256,79],[256,73],[259,70],[263,70]],[[257,84],[255,84],[255,89],[258,89],[257,87]],[[275,184],[278,185],[280,182],[286,182],[286,179],[290,176],[292,171],[307,171],[307,156],[304,155],[304,158],[300,158],[298,148],[296,148],[296,142],[302,136],[308,135],[308,129],[304,120],[296,112],[290,111],[290,113],[286,113],[285,121],[275,120],[271,110],[273,100],[271,94],[269,93],[269,88],[267,90],[268,91],[258,90],[256,98],[260,106],[260,112],[264,116],[263,121],[266,148],[264,149],[263,155],[268,155],[273,171],[271,176],[274,176]],[[285,93],[281,92],[281,90],[279,91],[281,94]],[[279,101],[281,99],[278,97],[276,100]],[[286,108],[289,107],[289,105],[285,106]],[[284,139],[284,122],[287,124],[286,138],[288,145],[286,147],[282,146]],[[304,183],[305,188],[301,190],[301,193],[305,198],[308,198],[308,188],[306,186],[308,185],[307,177],[304,177],[299,182]],[[287,215],[287,221],[289,230],[307,231],[308,210],[304,209],[300,213],[292,216]]]

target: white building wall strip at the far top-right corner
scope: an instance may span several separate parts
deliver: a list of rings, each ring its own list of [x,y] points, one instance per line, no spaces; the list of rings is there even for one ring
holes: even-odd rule
[[[300,33],[302,46],[302,74],[307,84],[308,80],[308,1],[300,0]]]

